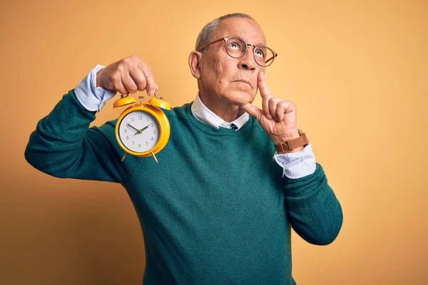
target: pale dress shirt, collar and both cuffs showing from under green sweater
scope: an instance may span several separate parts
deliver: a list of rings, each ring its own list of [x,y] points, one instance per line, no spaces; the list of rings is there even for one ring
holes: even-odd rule
[[[77,100],[86,110],[99,111],[106,104],[107,100],[116,95],[116,93],[110,90],[96,87],[96,73],[104,67],[105,66],[97,65],[74,89]],[[203,104],[202,100],[200,100],[199,93],[196,95],[191,110],[193,116],[205,125],[210,125],[213,128],[230,128],[233,124],[238,127],[238,129],[235,130],[237,132],[250,118],[248,113],[243,113],[243,115],[233,122],[225,122],[225,120],[215,115],[213,111]],[[304,147],[300,152],[282,154],[277,154],[277,152],[275,152],[273,159],[284,169],[283,175],[291,179],[305,177],[315,172],[316,162],[311,144]]]

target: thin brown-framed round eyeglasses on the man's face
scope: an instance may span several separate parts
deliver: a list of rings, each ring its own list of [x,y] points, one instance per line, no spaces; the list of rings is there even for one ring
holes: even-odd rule
[[[219,41],[225,41],[226,53],[232,58],[242,58],[248,51],[248,46],[254,48],[254,60],[259,66],[267,67],[270,66],[275,58],[278,56],[275,51],[268,48],[267,46],[254,46],[250,43],[245,43],[242,38],[230,37],[230,38],[219,38],[218,40],[207,43],[205,46],[200,48],[200,52],[204,48],[210,46],[210,44],[218,43]]]

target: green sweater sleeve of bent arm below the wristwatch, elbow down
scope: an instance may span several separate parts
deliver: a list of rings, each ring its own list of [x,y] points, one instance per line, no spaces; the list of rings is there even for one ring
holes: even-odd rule
[[[322,166],[302,178],[283,178],[292,228],[311,244],[332,243],[342,227],[342,207],[327,183]]]

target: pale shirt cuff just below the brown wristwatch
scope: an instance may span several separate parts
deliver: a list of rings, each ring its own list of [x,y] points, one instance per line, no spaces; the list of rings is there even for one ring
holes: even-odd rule
[[[292,179],[311,175],[317,166],[311,144],[305,146],[300,152],[281,154],[275,152],[273,158],[284,169],[282,177],[285,175]]]

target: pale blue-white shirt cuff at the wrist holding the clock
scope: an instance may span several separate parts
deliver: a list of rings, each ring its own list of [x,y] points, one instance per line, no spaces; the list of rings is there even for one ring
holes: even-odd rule
[[[116,92],[96,87],[96,73],[104,67],[98,64],[95,68],[92,68],[91,72],[74,89],[77,100],[86,110],[99,111],[106,105],[108,99],[116,95]]]

